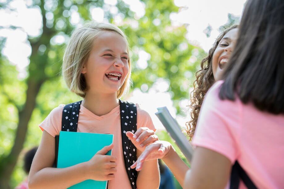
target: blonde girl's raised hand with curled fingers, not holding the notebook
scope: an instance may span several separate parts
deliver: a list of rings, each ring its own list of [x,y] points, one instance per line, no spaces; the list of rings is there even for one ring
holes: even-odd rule
[[[155,132],[148,127],[141,127],[133,134],[130,131],[126,132],[126,136],[140,151],[144,151],[145,147],[153,142],[159,140]]]

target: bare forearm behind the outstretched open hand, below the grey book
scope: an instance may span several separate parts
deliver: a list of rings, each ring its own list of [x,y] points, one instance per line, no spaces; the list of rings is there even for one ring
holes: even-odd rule
[[[169,155],[167,155],[162,160],[169,167],[177,181],[183,187],[186,172],[189,170],[189,167],[185,162],[182,161],[182,159],[179,157],[172,146],[169,151]]]

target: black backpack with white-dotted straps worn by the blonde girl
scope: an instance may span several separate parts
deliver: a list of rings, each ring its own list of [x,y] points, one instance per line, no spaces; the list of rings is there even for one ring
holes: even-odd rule
[[[62,126],[61,131],[77,132],[78,117],[80,111],[81,101],[65,105],[62,112]],[[127,131],[135,133],[137,130],[137,108],[133,103],[122,101],[119,99],[120,105],[120,121],[121,121],[121,136],[122,149],[125,168],[132,189],[136,189],[137,171],[131,169],[130,166],[136,162],[136,147],[131,140],[126,136]],[[59,135],[55,136],[55,167],[57,167]]]

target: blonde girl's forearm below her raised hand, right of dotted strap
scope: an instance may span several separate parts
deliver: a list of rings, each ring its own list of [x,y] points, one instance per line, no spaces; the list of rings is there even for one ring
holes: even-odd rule
[[[159,188],[160,171],[157,159],[144,162],[136,180],[137,188]]]

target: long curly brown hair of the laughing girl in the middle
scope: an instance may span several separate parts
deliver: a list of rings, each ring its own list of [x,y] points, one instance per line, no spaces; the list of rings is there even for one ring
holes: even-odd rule
[[[213,47],[209,50],[208,55],[201,60],[200,67],[201,69],[196,72],[196,80],[193,82],[193,91],[191,92],[190,105],[188,106],[191,109],[190,117],[191,120],[186,122],[185,131],[189,140],[192,140],[194,135],[195,127],[197,124],[197,119],[202,105],[203,99],[209,88],[214,84],[215,79],[213,76],[212,70],[212,59],[215,49],[217,48],[220,40],[228,33],[228,31],[237,28],[238,25],[233,25],[223,31],[215,40]]]

